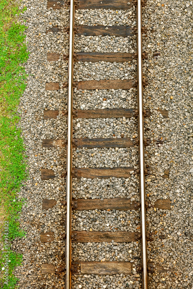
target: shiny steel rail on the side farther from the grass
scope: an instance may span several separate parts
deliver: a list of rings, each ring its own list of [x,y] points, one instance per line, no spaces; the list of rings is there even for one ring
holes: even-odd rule
[[[141,265],[143,289],[148,289],[147,273],[147,245],[146,245],[146,196],[145,196],[145,175],[144,175],[144,116],[143,116],[143,84],[142,84],[142,35],[141,35],[141,0],[137,2],[137,69],[138,69],[138,136],[139,136],[139,184],[141,197]]]

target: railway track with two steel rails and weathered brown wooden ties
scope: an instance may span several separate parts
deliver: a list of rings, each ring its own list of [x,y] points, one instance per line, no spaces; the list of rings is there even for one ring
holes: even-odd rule
[[[143,91],[147,89],[148,81],[143,75],[143,61],[147,59],[148,55],[145,49],[142,49],[143,35],[150,33],[147,32],[147,28],[144,27],[142,21],[142,7],[146,5],[146,1],[47,1],[47,8],[60,9],[64,5],[69,5],[70,18],[69,27],[63,29],[63,33],[69,35],[69,53],[64,55],[64,60],[68,61],[68,81],[63,84],[64,88],[67,88],[67,109],[62,112],[63,117],[67,118],[67,139],[43,140],[43,147],[65,147],[67,152],[66,170],[63,172],[62,177],[66,177],[66,205],[67,213],[65,219],[65,234],[62,239],[65,240],[65,264],[57,268],[58,273],[65,273],[65,288],[73,288],[72,275],[116,275],[124,274],[131,275],[133,272],[141,274],[141,288],[148,289],[148,278],[155,271],[155,265],[148,257],[147,248],[148,242],[153,242],[154,232],[147,231],[146,229],[146,210],[151,210],[152,207],[159,209],[170,209],[169,199],[157,200],[155,204],[151,204],[148,197],[146,197],[145,184],[148,175],[151,173],[151,168],[146,166],[144,148],[148,145],[161,145],[161,139],[154,139],[151,141],[149,138],[144,137],[144,120],[151,117],[149,109],[144,109],[144,96]],[[135,8],[136,11],[136,26],[77,26],[75,25],[75,10],[77,9],[112,9],[116,10],[129,10]],[[62,31],[61,28],[52,27],[49,31],[57,33]],[[115,37],[135,37],[137,42],[137,49],[134,53],[97,53],[97,52],[75,52],[74,39],[75,36],[115,36]],[[157,53],[155,53],[157,57]],[[57,61],[58,54],[48,53],[47,60]],[[131,79],[104,79],[104,80],[84,80],[74,81],[75,76],[74,68],[75,62],[91,62],[98,63],[105,61],[106,63],[133,63],[137,67],[137,73],[135,77]],[[137,106],[135,108],[113,108],[113,109],[74,109],[73,108],[73,95],[77,90],[129,90],[137,89]],[[58,90],[58,83],[46,83],[46,90]],[[167,111],[159,110],[163,118],[167,118]],[[56,118],[59,112],[57,110],[45,110],[44,119]],[[124,137],[121,138],[76,138],[73,136],[73,120],[76,119],[132,119],[137,120],[137,138]],[[74,149],[109,149],[109,148],[138,148],[138,166],[137,168],[132,166],[116,166],[116,167],[76,167],[73,165],[73,152]],[[165,171],[163,178],[168,177],[169,172]],[[136,181],[136,190],[138,189],[138,201],[133,201],[128,198],[111,198],[111,199],[80,199],[72,197],[72,182],[73,179],[87,178],[93,179],[109,179],[112,177],[127,179],[134,177],[138,179]],[[41,179],[53,179],[55,177],[52,170],[42,169]],[[43,200],[43,209],[47,210],[56,205],[56,201]],[[132,211],[139,210],[140,212],[140,226],[138,231],[74,231],[72,227],[72,211],[84,211],[84,210],[120,210],[120,211]],[[49,234],[48,234],[49,233]],[[41,234],[41,242],[51,242],[53,240],[53,232],[47,232],[47,234]],[[74,262],[72,260],[72,243],[84,243],[84,242],[111,242],[114,240],[117,243],[123,242],[139,242],[141,245],[141,261],[135,260],[135,262],[126,261],[87,261],[87,262]],[[64,255],[63,255],[64,257]],[[134,265],[133,265],[134,264]],[[165,272],[166,269],[159,267],[156,268],[159,273]],[[51,264],[43,264],[42,274],[56,273],[54,266]]]

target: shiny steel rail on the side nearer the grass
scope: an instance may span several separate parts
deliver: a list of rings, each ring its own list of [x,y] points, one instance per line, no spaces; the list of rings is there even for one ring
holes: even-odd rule
[[[65,260],[66,260],[66,279],[65,289],[71,288],[71,141],[72,141],[72,99],[73,99],[73,38],[74,38],[74,0],[70,0],[70,18],[69,18],[69,60],[68,60],[68,99],[67,99],[67,160],[66,160],[66,242],[65,242]]]

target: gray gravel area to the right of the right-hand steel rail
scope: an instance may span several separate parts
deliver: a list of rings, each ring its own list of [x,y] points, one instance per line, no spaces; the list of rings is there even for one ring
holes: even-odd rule
[[[170,198],[171,211],[147,212],[147,229],[156,232],[155,241],[149,244],[149,255],[154,264],[172,268],[175,274],[158,273],[155,279],[149,279],[149,286],[191,289],[192,2],[150,2],[144,8],[144,21],[156,32],[149,31],[143,41],[148,53],[144,96],[145,108],[150,108],[153,115],[147,119],[145,135],[151,140],[163,138],[163,146],[146,147],[146,163],[151,168],[146,191],[152,203]],[[153,58],[154,51],[160,52],[157,59]],[[168,110],[167,119],[157,114],[158,108]],[[170,171],[169,179],[161,177],[166,169]]]

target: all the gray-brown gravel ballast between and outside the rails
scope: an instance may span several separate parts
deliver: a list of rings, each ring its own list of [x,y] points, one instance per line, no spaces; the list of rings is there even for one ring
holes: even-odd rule
[[[20,227],[26,238],[16,239],[12,250],[23,255],[23,264],[16,268],[19,288],[65,288],[64,273],[41,274],[42,263],[55,264],[56,270],[64,262],[65,252],[65,178],[66,150],[61,147],[42,148],[43,139],[65,139],[67,118],[61,111],[67,108],[68,35],[62,30],[52,34],[46,30],[69,25],[69,10],[47,10],[47,1],[23,1],[27,10],[21,15],[26,26],[26,43],[30,52],[25,64],[27,88],[18,108],[21,135],[24,138],[29,179],[23,183],[19,198],[27,200],[22,208]],[[155,204],[157,199],[170,198],[171,210],[147,210],[147,230],[154,232],[148,242],[148,260],[155,264],[149,276],[149,288],[192,289],[192,1],[147,1],[143,8],[143,24],[148,32],[143,36],[143,73],[148,79],[144,88],[144,108],[151,111],[145,119],[144,134],[152,141],[145,148],[145,162],[150,166],[146,177],[147,198]],[[131,13],[130,13],[131,12]],[[76,25],[132,25],[136,26],[136,10],[76,10]],[[118,16],[118,17],[117,17]],[[26,22],[25,22],[26,21]],[[151,32],[153,30],[154,32]],[[76,52],[136,52],[136,36],[75,36]],[[154,59],[153,53],[160,56]],[[60,60],[47,61],[47,53],[58,53]],[[74,80],[130,79],[136,76],[136,60],[130,63],[81,63],[74,66]],[[45,91],[46,82],[59,82],[58,91]],[[136,89],[130,90],[74,90],[74,109],[136,108]],[[59,110],[56,119],[43,120],[44,110]],[[168,111],[168,118],[158,114]],[[137,120],[75,119],[75,138],[136,138]],[[163,145],[153,143],[162,138]],[[137,147],[128,149],[74,149],[73,166],[106,167],[134,166],[138,168]],[[41,168],[52,169],[55,178],[41,181]],[[163,173],[169,169],[169,179]],[[139,201],[138,177],[127,179],[73,179],[72,197],[84,199],[131,198]],[[54,199],[56,206],[42,210],[42,199]],[[84,217],[83,217],[84,216]],[[92,220],[93,219],[93,220]],[[107,226],[109,224],[109,226]],[[111,227],[111,228],[110,228]],[[139,231],[139,211],[73,211],[72,230]],[[40,232],[54,232],[54,242],[41,243]],[[132,266],[140,263],[140,241],[131,243],[73,243],[74,261],[127,261]],[[157,266],[173,272],[158,273]],[[72,277],[72,288],[141,288],[141,274],[80,275]]]

